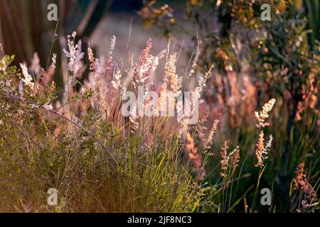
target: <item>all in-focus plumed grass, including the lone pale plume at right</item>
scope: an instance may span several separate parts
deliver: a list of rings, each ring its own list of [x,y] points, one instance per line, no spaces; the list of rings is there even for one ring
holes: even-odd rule
[[[242,200],[245,211],[256,211],[272,136],[265,145],[265,131],[260,131],[255,160],[249,145],[232,146],[227,140],[219,155],[213,152],[219,121],[209,128],[208,114],[196,126],[188,125],[186,116],[142,117],[132,111],[124,117],[124,92],[137,93],[143,85],[145,92],[176,96],[183,76],[176,72],[177,54],[169,52],[170,43],[166,52],[152,55],[148,40],[139,60],[131,57],[131,67],[124,69],[113,59],[115,42],[113,37],[105,60],[87,49],[90,74],[83,79],[81,41],[76,42],[76,33],[68,36],[68,78],[60,99],[52,80],[55,54],[48,70],[34,59],[29,69],[20,65],[22,73],[11,66],[14,57],[1,59],[0,211],[231,212]],[[163,57],[164,80],[158,85],[155,70]],[[196,72],[197,62],[198,54],[186,77]],[[194,91],[204,90],[211,70],[198,74]],[[271,99],[255,114],[257,128],[270,126],[266,121],[274,103]],[[183,108],[178,102],[174,107]],[[208,162],[216,162],[215,167],[206,168]],[[255,184],[239,194],[243,180],[251,177],[243,173],[247,162],[250,167],[256,162],[259,173]],[[50,188],[58,189],[58,206],[46,203]]]

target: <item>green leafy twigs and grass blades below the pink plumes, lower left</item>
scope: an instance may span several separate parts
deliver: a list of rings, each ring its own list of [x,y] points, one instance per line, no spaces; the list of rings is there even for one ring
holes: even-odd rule
[[[45,108],[55,96],[54,89],[43,96],[33,94],[25,84],[19,89],[21,74],[10,66],[13,59],[5,56],[0,63],[1,211],[196,209],[201,187],[183,165],[176,135],[170,143],[159,138],[146,146],[142,135],[129,135],[119,143],[121,129],[90,109],[82,118],[83,128],[78,128]],[[90,93],[74,99],[87,99]],[[49,188],[58,189],[58,206],[47,205]]]

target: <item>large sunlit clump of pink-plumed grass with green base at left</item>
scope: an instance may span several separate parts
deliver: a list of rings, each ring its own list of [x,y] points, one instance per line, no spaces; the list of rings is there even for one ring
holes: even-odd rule
[[[200,186],[189,169],[178,122],[122,116],[120,98],[127,87],[121,81],[124,70],[112,60],[115,38],[105,63],[88,50],[91,73],[80,82],[84,53],[75,35],[68,36],[65,50],[69,78],[61,101],[52,82],[56,55],[47,71],[37,64],[28,71],[21,64],[21,73],[11,66],[14,57],[1,60],[0,210],[196,209]],[[132,63],[134,87],[151,87],[159,56],[150,50],[151,40],[139,64]],[[46,204],[49,188],[58,189],[58,206]]]

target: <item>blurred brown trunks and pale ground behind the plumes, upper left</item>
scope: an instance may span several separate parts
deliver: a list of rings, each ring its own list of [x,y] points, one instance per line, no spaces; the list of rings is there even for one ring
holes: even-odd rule
[[[58,6],[58,21],[48,21],[49,4]],[[162,6],[166,1],[156,2]],[[170,1],[176,13],[182,16],[185,1]],[[82,40],[82,50],[87,46],[94,50],[97,58],[107,55],[112,35],[117,37],[114,56],[118,62],[128,63],[129,52],[139,56],[148,38],[152,38],[153,52],[166,49],[168,37],[159,28],[146,26],[139,11],[146,6],[142,0],[0,0],[0,43],[6,54],[15,55],[14,63],[32,64],[38,54],[40,65],[46,67],[50,54],[57,54],[55,82],[63,87],[63,48],[67,35],[77,31]],[[184,34],[183,34],[184,35]],[[188,36],[183,37],[189,39]],[[180,48],[176,45],[176,51]],[[191,47],[193,48],[193,46]],[[2,53],[0,52],[0,55]],[[87,57],[85,57],[87,58]],[[178,71],[186,67],[186,55],[180,55]],[[86,62],[88,63],[88,62]]]

